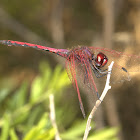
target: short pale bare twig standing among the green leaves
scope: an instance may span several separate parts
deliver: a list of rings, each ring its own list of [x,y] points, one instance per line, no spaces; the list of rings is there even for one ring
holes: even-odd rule
[[[52,126],[55,129],[56,133],[55,133],[55,140],[61,140],[60,136],[59,136],[59,131],[57,128],[57,124],[56,124],[56,119],[55,119],[55,107],[54,107],[54,96],[53,94],[51,94],[49,96],[50,99],[50,119],[52,122]]]

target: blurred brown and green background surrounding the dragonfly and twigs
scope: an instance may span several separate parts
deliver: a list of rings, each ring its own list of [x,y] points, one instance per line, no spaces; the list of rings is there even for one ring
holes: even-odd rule
[[[101,46],[139,54],[139,0],[1,0],[0,40],[54,48]],[[0,45],[0,140],[52,140],[54,95],[61,139],[81,140],[83,119],[65,60],[35,49]],[[140,139],[140,79],[117,84],[97,110],[89,140]],[[94,102],[80,88],[86,114]],[[83,91],[83,92],[82,92]]]

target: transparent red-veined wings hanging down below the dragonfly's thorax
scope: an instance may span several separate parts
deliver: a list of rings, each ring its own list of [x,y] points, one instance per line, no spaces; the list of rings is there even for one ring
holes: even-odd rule
[[[66,61],[66,70],[70,80],[77,90],[80,108],[83,116],[85,116],[78,84],[80,84],[82,87],[85,87],[86,89],[89,89],[90,92],[98,95],[98,90],[93,78],[93,72],[90,67],[89,59],[86,58],[86,56],[84,58],[81,57],[77,59],[75,54],[71,54],[70,59]]]

